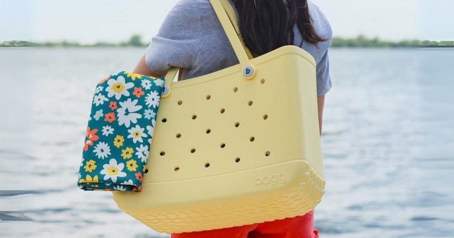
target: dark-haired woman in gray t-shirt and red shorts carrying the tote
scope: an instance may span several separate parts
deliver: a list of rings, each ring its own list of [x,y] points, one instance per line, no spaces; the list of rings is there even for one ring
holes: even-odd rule
[[[331,88],[328,48],[331,26],[310,0],[230,0],[241,36],[254,57],[297,45],[317,63],[319,128],[325,94]],[[150,18],[151,19],[151,18]],[[163,77],[171,66],[184,68],[182,80],[238,64],[209,0],[180,0],[153,37],[134,73]],[[314,211],[304,216],[212,231],[172,234],[172,238],[315,238]]]

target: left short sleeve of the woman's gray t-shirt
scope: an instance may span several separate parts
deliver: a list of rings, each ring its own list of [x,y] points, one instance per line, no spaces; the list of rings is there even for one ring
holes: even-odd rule
[[[172,66],[191,69],[202,41],[199,8],[195,0],[180,0],[161,24],[145,50],[151,71],[163,74]]]

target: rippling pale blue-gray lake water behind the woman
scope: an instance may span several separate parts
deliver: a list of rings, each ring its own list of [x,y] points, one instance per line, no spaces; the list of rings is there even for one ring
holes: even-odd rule
[[[76,186],[92,93],[144,49],[0,49],[0,237],[158,238]],[[454,50],[331,49],[322,238],[454,237]]]

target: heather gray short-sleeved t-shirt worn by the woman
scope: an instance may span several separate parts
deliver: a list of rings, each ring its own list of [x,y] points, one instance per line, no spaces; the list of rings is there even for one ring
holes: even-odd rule
[[[329,39],[320,42],[319,48],[306,41],[301,47],[317,63],[317,95],[322,96],[331,88],[328,48],[333,32],[319,7],[310,0],[308,4],[317,33]],[[295,26],[295,45],[299,45],[301,40],[301,33]],[[209,0],[178,1],[146,49],[145,62],[151,71],[161,74],[171,66],[184,68],[182,80],[239,63]]]

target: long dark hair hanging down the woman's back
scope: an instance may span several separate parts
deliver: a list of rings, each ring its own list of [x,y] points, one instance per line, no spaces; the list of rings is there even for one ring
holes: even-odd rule
[[[308,0],[231,0],[238,13],[241,37],[254,56],[294,45],[294,26],[303,40],[317,46],[319,36],[309,14]],[[300,47],[303,44],[300,43]]]

